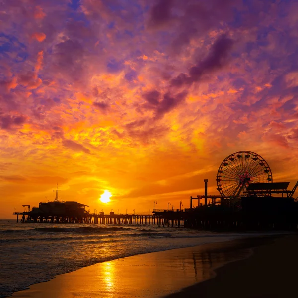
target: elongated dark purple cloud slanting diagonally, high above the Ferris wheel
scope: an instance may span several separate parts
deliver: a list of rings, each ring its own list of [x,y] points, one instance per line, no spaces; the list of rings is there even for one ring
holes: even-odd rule
[[[210,74],[222,69],[226,65],[226,58],[232,48],[234,41],[226,35],[220,36],[212,45],[209,54],[205,59],[193,66],[188,75],[179,74],[171,80],[171,85],[180,87],[184,84],[192,84],[201,79],[204,74]]]

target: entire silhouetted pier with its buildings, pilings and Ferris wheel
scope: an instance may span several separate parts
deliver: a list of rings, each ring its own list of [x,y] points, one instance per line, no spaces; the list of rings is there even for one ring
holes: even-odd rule
[[[40,203],[28,212],[14,212],[21,222],[40,223],[94,223],[94,224],[158,224],[211,230],[297,230],[298,198],[289,182],[273,182],[272,172],[260,155],[239,151],[226,157],[217,173],[218,195],[205,192],[190,197],[190,208],[172,210],[154,209],[151,215],[90,213],[87,205],[60,201],[58,186],[53,202]],[[203,201],[201,203],[200,201]],[[197,206],[193,206],[198,200]],[[181,202],[180,202],[181,203]],[[88,206],[87,206],[88,207]]]

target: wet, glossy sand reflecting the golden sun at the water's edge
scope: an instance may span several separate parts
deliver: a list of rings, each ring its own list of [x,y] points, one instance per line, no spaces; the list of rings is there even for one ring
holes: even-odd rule
[[[216,268],[248,258],[251,247],[277,237],[283,235],[260,235],[97,263],[31,285],[11,297],[163,297],[213,278]],[[140,296],[145,295],[145,289],[146,296]]]

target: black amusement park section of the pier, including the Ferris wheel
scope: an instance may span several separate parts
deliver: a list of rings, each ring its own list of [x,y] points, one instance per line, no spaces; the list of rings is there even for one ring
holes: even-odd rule
[[[263,157],[239,151],[226,157],[217,174],[219,195],[190,197],[186,210],[187,227],[204,229],[298,229],[298,202],[289,182],[273,182]],[[278,195],[278,196],[276,196]],[[200,200],[205,197],[205,204]],[[206,200],[209,199],[209,202]],[[193,207],[193,200],[198,206]]]

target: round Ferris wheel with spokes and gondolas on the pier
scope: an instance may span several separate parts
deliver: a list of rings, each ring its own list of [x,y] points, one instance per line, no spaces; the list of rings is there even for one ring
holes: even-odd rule
[[[250,151],[227,156],[217,173],[217,190],[224,197],[241,197],[251,183],[272,182],[272,172],[263,157]]]

